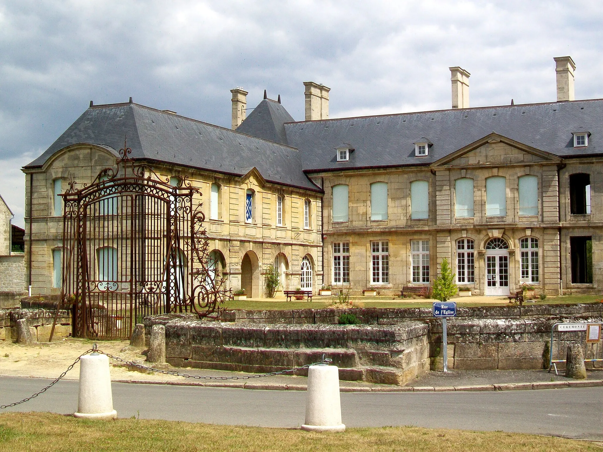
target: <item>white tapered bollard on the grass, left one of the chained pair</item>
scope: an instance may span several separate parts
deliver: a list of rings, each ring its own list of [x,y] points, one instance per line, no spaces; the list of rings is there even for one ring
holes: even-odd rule
[[[115,419],[109,358],[92,353],[80,358],[80,392],[76,418]]]

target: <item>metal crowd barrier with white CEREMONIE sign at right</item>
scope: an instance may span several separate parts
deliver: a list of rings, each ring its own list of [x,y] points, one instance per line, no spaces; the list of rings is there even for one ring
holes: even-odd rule
[[[592,363],[595,368],[596,362],[603,362],[602,328],[603,324],[589,322],[554,324],[551,328],[551,342],[549,343],[549,372],[555,368],[555,374],[558,374],[557,363],[566,362],[567,345],[572,342],[586,343],[586,347],[582,349],[585,352],[585,364]],[[557,340],[555,340],[555,333],[559,333]]]

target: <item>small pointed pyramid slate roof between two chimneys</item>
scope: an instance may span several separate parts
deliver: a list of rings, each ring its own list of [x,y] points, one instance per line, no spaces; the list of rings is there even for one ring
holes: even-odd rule
[[[236,129],[254,137],[270,140],[283,145],[287,143],[285,122],[294,122],[283,105],[272,99],[264,99],[257,104],[247,119]]]

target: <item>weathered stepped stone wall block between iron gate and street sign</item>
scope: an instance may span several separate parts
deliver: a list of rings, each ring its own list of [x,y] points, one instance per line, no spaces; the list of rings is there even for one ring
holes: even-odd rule
[[[390,385],[429,369],[428,325],[422,322],[268,326],[163,315],[145,318],[147,334],[153,324],[165,325],[166,360],[177,367],[273,372],[320,362],[326,354],[341,380]]]

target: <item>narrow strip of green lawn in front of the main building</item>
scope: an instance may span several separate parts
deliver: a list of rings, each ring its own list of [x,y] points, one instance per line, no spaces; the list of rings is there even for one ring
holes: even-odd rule
[[[376,297],[377,298],[377,297]],[[596,303],[601,300],[601,295],[565,295],[564,297],[547,297],[546,300],[538,300],[530,304],[566,304],[566,303]],[[316,297],[317,300],[320,300]],[[370,299],[369,299],[370,300]],[[403,298],[377,298],[376,300],[367,301],[366,297],[353,297],[352,302],[355,307],[431,307],[434,300],[405,300]],[[500,303],[471,303],[470,301],[456,300],[457,306],[506,306],[508,303],[501,301]],[[286,310],[286,309],[322,309],[329,306],[332,302],[330,298],[325,301],[290,301],[276,299],[275,301],[266,300],[228,300],[226,301],[226,309],[247,309],[247,310]]]

